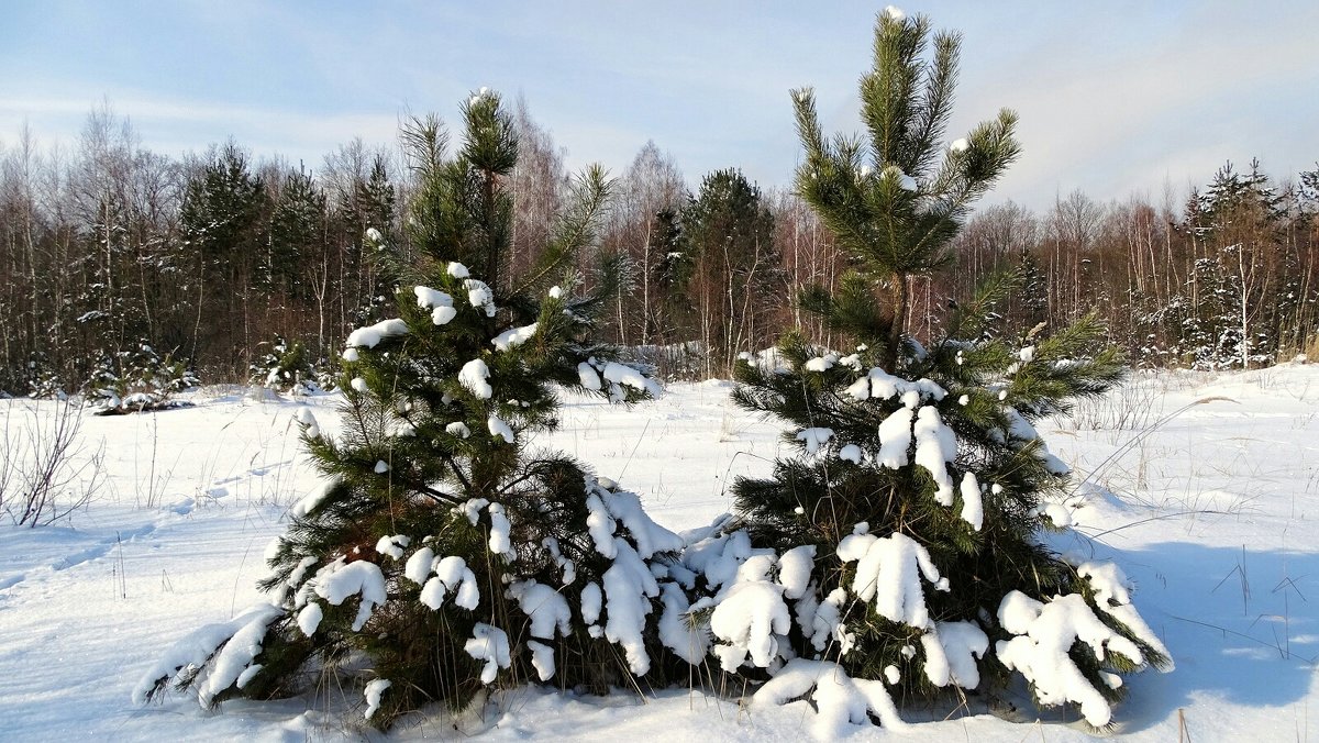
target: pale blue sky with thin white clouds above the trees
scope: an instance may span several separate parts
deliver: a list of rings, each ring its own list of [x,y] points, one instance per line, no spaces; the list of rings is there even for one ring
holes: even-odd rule
[[[690,183],[739,166],[786,186],[799,156],[789,90],[814,86],[831,129],[856,131],[873,3],[321,1],[7,4],[0,146],[26,121],[77,144],[108,100],[145,146],[232,136],[318,166],[353,136],[393,143],[400,116],[456,117],[488,86],[522,95],[568,162],[615,173],[654,140]],[[995,201],[1047,207],[1165,183],[1224,161],[1274,176],[1319,160],[1319,3],[925,3],[964,34],[950,137],[1000,107],[1025,154]]]

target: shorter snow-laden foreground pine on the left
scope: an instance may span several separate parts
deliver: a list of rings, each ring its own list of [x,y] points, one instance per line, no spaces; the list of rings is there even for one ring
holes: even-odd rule
[[[649,562],[681,540],[636,495],[562,454],[534,450],[557,388],[629,403],[658,391],[611,360],[572,259],[592,245],[605,201],[599,168],[520,275],[505,271],[517,141],[500,98],[463,106],[450,156],[438,121],[405,129],[418,179],[406,228],[419,263],[400,265],[398,317],[361,327],[343,354],[343,433],[305,414],[324,488],[293,509],[262,582],[272,603],[179,643],[136,697],[194,688],[203,706],[317,684],[364,684],[364,715],[488,686],[546,681],[604,690],[652,669]]]

